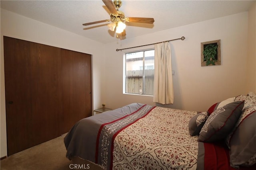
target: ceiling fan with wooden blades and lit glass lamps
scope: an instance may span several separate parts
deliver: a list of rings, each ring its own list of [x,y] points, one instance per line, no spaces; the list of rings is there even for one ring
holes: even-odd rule
[[[102,22],[108,22],[111,21],[112,23],[108,24],[108,28],[111,31],[115,31],[118,34],[122,36],[126,35],[125,28],[126,24],[125,22],[139,22],[139,23],[154,23],[154,18],[140,18],[140,17],[125,17],[124,13],[122,11],[119,11],[119,8],[122,6],[122,0],[102,0],[108,10],[110,11],[110,19],[109,20],[101,20],[101,21],[94,21],[94,22],[88,22],[84,23],[83,25],[92,25],[96,23],[102,23]]]

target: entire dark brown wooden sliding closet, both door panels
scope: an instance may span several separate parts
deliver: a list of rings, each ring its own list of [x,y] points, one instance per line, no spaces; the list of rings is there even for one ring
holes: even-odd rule
[[[4,37],[4,69],[8,156],[92,114],[90,55]]]

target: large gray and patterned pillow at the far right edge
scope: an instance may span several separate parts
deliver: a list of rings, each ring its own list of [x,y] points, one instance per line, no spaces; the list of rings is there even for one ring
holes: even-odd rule
[[[244,109],[226,143],[230,149],[230,166],[239,168],[256,164],[256,97],[241,95],[236,100],[245,100]]]

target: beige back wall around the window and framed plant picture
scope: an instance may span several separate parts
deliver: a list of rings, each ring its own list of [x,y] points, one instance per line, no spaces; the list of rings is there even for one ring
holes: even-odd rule
[[[150,49],[153,46],[118,52],[116,49],[151,44],[182,36],[186,37],[184,41],[170,42],[172,70],[174,70],[174,104],[165,107],[206,111],[215,102],[246,94],[248,92],[245,85],[248,66],[246,61],[247,33],[248,12],[243,12],[109,43],[106,45],[108,68],[105,71],[105,103],[110,108],[133,102],[155,105],[152,96],[123,94],[123,65],[116,64],[123,63],[123,55],[126,52]],[[201,66],[200,43],[217,39],[221,40],[221,65]],[[250,67],[255,68],[255,64]]]

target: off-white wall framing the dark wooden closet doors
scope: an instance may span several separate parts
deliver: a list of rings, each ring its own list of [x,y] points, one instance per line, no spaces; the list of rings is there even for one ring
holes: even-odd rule
[[[100,101],[102,98],[101,89],[103,86],[103,83],[101,82],[101,73],[104,72],[102,67],[102,65],[104,65],[104,61],[102,60],[104,51],[98,50],[104,49],[103,44],[1,9],[1,157],[6,156],[7,154],[3,35],[92,54],[94,108],[99,107],[102,103],[102,101]]]

